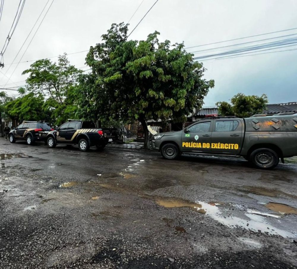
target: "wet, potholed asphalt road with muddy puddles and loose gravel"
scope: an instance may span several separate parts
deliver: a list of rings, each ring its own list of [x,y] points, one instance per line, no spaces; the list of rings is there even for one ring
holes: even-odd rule
[[[297,268],[296,163],[4,139],[0,159],[1,269]]]

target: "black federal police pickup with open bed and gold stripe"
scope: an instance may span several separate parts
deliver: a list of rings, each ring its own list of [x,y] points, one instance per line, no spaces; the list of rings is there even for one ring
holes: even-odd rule
[[[48,133],[47,143],[50,148],[56,147],[57,144],[78,144],[81,151],[87,151],[92,146],[103,149],[108,142],[113,141],[112,137],[108,128],[97,128],[94,122],[68,120]]]

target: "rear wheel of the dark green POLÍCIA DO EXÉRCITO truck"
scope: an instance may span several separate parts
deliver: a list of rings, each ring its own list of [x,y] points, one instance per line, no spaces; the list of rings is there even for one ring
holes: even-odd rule
[[[260,169],[273,169],[279,163],[279,156],[272,149],[255,149],[250,155],[252,164]]]

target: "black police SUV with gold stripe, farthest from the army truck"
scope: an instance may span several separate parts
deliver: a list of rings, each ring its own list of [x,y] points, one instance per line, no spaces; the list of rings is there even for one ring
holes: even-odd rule
[[[23,121],[17,128],[9,133],[10,143],[16,140],[26,140],[28,145],[36,141],[46,141],[46,136],[50,130],[50,125],[43,121]]]

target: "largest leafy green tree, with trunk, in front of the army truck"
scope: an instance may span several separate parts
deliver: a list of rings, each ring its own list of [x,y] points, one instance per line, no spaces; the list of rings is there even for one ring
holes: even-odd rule
[[[127,40],[126,24],[113,24],[102,43],[91,47],[86,63],[91,74],[81,76],[80,117],[135,121],[148,138],[148,120],[185,120],[201,107],[214,81],[187,53],[184,44],[159,42],[159,33],[146,40]]]

